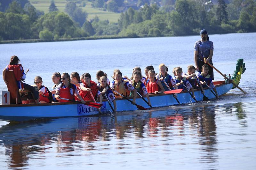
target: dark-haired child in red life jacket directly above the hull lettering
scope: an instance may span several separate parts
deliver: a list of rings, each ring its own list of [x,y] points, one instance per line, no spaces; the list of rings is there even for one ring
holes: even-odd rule
[[[102,103],[102,95],[99,91],[98,85],[92,81],[91,75],[89,73],[84,73],[84,83],[80,85],[80,95],[83,100],[93,100],[90,92],[94,99],[96,100],[97,97],[100,98],[100,104]]]

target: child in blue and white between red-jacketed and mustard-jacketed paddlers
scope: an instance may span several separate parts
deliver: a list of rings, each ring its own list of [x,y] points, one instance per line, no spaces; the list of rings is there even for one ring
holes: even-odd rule
[[[103,95],[103,99],[105,98],[105,94],[110,102],[114,104],[114,112],[116,112],[116,98],[112,92],[112,89],[108,85],[108,78],[105,76],[100,77],[100,92]]]

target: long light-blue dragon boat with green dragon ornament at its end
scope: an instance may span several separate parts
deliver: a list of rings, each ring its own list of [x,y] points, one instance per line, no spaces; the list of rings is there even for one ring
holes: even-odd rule
[[[241,75],[245,71],[244,67],[245,64],[243,59],[238,59],[236,70],[234,71],[231,79],[213,82],[219,96],[224,95],[232,88],[235,88],[234,82],[236,85],[239,84]],[[215,98],[213,93],[208,88],[204,88],[204,95],[209,99]],[[172,94],[159,93],[150,94],[149,96],[151,105],[153,107],[151,109],[154,109],[154,107],[178,105],[177,100],[173,97]],[[145,98],[145,96],[143,97]],[[204,98],[199,89],[195,90],[195,97],[197,101],[203,101]],[[128,99],[131,100],[132,98],[133,97],[128,97]],[[179,100],[180,104],[196,102],[186,91],[178,93],[177,99]],[[111,110],[107,100],[103,100],[102,104],[103,108]],[[139,96],[136,99],[136,104],[145,108],[150,108],[148,104]],[[132,105],[128,100],[125,100],[124,98],[116,99],[116,108],[117,112],[138,110],[135,105]],[[98,114],[100,114],[98,108],[76,102],[0,105],[0,120],[7,122],[27,122],[40,119],[54,119],[63,117],[85,117]]]

